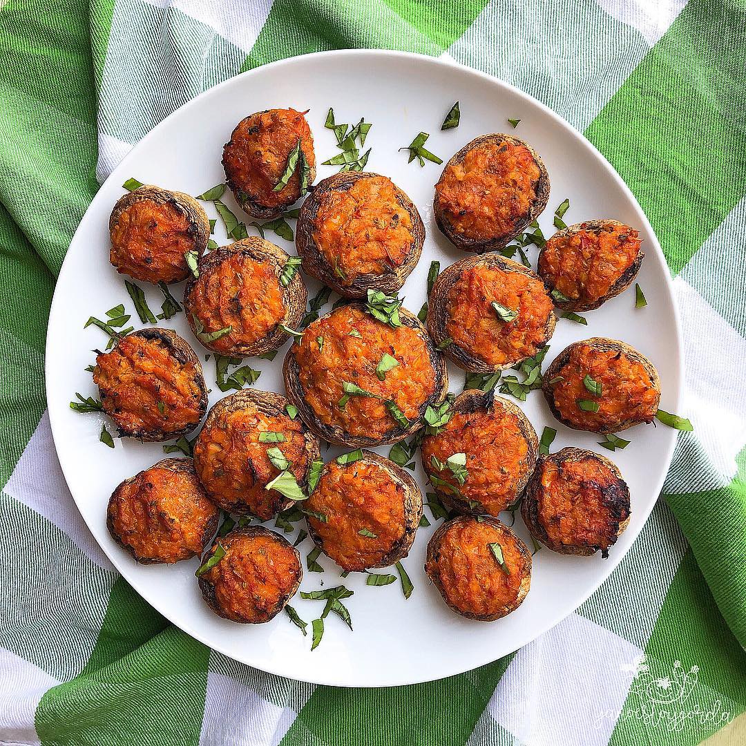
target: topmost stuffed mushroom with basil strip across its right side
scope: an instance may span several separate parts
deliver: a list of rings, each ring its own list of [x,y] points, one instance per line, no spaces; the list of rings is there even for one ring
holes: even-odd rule
[[[280,186],[292,167],[289,158],[301,143],[295,170]],[[297,155],[297,154],[296,154]],[[269,109],[242,119],[223,148],[225,179],[238,204],[255,218],[278,218],[304,194],[301,186],[316,178],[313,136],[305,112]]]

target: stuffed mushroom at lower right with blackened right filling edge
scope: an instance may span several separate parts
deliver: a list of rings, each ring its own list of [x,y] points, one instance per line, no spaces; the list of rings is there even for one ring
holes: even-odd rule
[[[630,522],[630,491],[616,466],[583,448],[542,456],[521,515],[531,535],[560,554],[591,555],[609,547]]]

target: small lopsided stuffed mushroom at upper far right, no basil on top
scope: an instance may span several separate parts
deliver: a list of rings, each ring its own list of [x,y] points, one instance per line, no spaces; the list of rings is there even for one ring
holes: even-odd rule
[[[554,304],[592,311],[626,290],[645,256],[638,236],[617,220],[589,220],[555,233],[539,252],[537,266]]]

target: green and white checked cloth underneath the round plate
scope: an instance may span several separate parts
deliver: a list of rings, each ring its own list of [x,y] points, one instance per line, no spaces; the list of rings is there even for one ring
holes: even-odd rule
[[[745,0],[0,0],[0,744],[745,744],[745,28]],[[54,278],[98,184],[202,90],[345,47],[497,75],[606,155],[674,277],[696,427],[588,603],[397,689],[284,680],[168,624],[93,542],[45,415]]]

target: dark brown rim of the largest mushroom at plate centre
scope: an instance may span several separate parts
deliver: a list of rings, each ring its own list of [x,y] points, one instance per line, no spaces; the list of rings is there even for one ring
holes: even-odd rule
[[[360,310],[365,310],[364,304],[353,303],[346,305],[347,307],[354,306]],[[334,310],[335,309],[328,311],[325,316],[329,313],[333,313]],[[314,413],[313,409],[311,409],[307,404],[304,397],[301,378],[298,374],[298,362],[295,360],[295,354],[293,353],[295,345],[291,345],[285,356],[285,362],[283,363],[285,389],[289,400],[292,401],[292,404],[295,404],[295,406],[298,407],[298,413],[300,414],[301,419],[317,437],[330,442],[332,445],[343,445],[348,448],[375,448],[378,445],[392,445],[392,443],[408,438],[410,435],[416,433],[421,427],[424,427],[424,413],[425,410],[427,410],[427,407],[434,407],[445,399],[445,395],[448,393],[448,369],[446,368],[445,360],[439,351],[436,350],[433,340],[430,339],[427,331],[425,331],[416,316],[413,316],[413,314],[405,308],[400,308],[399,319],[401,319],[401,324],[403,326],[416,330],[422,341],[425,343],[427,352],[430,354],[430,363],[433,366],[435,389],[433,394],[421,404],[419,416],[410,421],[409,427],[401,427],[397,424],[395,427],[392,427],[391,430],[388,430],[382,438],[353,436],[345,430],[342,430],[342,427],[339,427],[339,425],[327,425],[322,421],[319,421],[316,417],[316,413]]]

